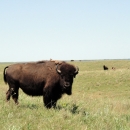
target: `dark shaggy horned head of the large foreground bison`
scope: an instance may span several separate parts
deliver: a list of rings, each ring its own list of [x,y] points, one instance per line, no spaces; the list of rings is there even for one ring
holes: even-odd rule
[[[63,93],[72,94],[73,78],[78,74],[79,68],[70,64],[57,65],[56,71],[60,75],[60,85]]]

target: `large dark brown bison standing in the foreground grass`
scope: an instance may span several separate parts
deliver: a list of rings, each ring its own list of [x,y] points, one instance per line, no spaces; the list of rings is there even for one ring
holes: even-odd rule
[[[6,100],[12,96],[18,104],[19,88],[27,95],[43,96],[45,107],[56,107],[63,94],[72,94],[73,78],[78,67],[66,62],[40,61],[17,63],[4,68],[4,81],[8,83]]]

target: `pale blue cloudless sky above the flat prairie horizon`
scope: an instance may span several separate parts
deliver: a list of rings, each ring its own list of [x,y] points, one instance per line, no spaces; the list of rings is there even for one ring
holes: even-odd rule
[[[130,58],[130,0],[0,0],[0,62]]]

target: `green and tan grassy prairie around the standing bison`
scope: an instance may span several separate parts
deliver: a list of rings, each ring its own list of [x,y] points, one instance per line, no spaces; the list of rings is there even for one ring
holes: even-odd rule
[[[19,105],[5,101],[8,85],[0,64],[1,130],[130,130],[130,60],[71,62],[79,67],[73,94],[63,95],[57,109],[43,107],[42,97],[20,90]],[[102,66],[108,66],[104,71]],[[111,67],[116,70],[112,70]]]

